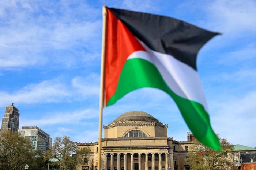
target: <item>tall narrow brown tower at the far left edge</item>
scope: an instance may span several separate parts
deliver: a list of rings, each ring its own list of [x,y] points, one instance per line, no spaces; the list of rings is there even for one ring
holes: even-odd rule
[[[14,106],[6,106],[4,117],[2,119],[1,132],[19,130],[19,110]]]

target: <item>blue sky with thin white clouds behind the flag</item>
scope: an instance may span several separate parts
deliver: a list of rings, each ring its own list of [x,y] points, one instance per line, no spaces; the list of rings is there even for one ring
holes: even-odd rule
[[[104,4],[222,33],[197,56],[211,125],[234,145],[256,147],[255,0],[1,0],[0,117],[14,103],[20,128],[38,126],[53,139],[98,140]],[[168,124],[168,137],[187,140],[189,129],[176,104],[153,88],[104,108],[103,125],[132,110]]]

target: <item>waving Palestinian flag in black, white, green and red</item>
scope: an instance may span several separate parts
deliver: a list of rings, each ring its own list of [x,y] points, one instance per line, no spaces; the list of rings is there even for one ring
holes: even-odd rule
[[[165,91],[193,135],[220,150],[196,68],[200,48],[218,33],[170,17],[106,8],[104,106],[143,87]]]

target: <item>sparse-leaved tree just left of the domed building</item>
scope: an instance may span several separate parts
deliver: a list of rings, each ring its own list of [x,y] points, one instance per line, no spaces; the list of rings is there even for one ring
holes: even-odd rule
[[[72,170],[83,162],[83,158],[90,155],[90,149],[84,148],[78,150],[76,142],[72,141],[70,137],[56,137],[52,149],[48,150],[47,158],[57,159],[57,163],[61,170]]]

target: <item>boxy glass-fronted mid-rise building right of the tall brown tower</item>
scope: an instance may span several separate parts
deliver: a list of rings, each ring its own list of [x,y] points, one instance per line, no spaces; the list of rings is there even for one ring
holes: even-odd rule
[[[22,126],[22,129],[19,129],[19,136],[30,139],[31,150],[42,150],[45,153],[52,147],[50,135],[37,126]]]

